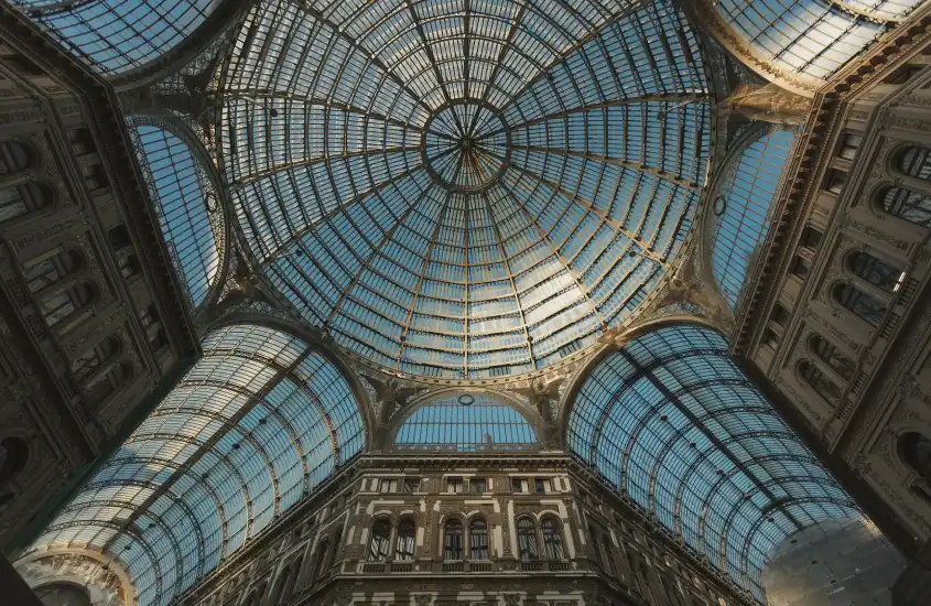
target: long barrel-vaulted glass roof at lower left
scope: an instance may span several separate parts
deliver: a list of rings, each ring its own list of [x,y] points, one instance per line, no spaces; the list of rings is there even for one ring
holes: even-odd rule
[[[214,331],[204,356],[31,547],[118,559],[166,605],[359,453],[359,404],[303,342]]]

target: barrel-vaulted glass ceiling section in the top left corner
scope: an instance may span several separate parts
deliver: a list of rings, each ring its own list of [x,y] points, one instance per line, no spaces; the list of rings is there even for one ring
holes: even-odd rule
[[[11,0],[97,72],[141,67],[176,46],[219,0]]]

